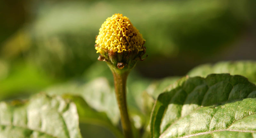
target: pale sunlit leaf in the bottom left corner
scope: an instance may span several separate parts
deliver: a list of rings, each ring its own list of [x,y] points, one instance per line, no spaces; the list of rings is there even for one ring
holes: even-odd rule
[[[0,103],[1,138],[82,138],[76,105],[38,94],[26,103]]]

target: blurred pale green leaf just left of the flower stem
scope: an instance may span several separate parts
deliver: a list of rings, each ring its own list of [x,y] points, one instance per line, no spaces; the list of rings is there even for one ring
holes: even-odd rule
[[[72,94],[81,96],[86,103],[98,112],[105,112],[111,122],[117,125],[119,110],[116,103],[114,90],[108,84],[106,78],[96,78],[88,83],[70,81],[45,90],[50,95]]]

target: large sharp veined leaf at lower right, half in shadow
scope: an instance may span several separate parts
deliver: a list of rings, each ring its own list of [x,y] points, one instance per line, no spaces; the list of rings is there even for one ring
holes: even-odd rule
[[[256,86],[245,77],[211,74],[176,84],[156,100],[152,138],[256,135]]]

